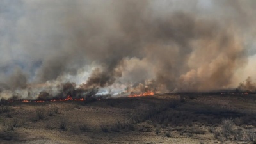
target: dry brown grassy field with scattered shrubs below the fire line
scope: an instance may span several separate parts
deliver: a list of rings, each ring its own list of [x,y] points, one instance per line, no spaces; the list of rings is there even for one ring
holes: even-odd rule
[[[0,143],[256,143],[256,95],[12,102]]]

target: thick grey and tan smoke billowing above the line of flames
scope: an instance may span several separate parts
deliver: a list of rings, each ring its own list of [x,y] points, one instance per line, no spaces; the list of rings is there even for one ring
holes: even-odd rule
[[[98,88],[113,93],[234,88],[253,63],[248,58],[255,55],[255,4],[4,0],[0,91],[81,97]],[[63,84],[72,90],[60,89]]]

